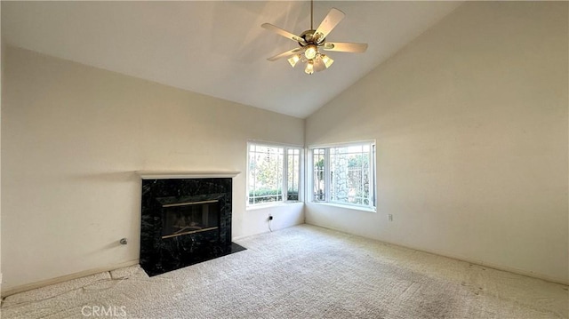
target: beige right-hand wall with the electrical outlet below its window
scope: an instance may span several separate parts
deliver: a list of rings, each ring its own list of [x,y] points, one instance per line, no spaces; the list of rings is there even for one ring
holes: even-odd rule
[[[463,4],[309,116],[308,146],[377,140],[378,212],[306,222],[567,283],[567,12]]]

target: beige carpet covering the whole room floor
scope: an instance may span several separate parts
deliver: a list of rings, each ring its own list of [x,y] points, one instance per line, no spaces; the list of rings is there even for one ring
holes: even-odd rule
[[[565,285],[319,227],[237,243],[248,250],[152,278],[128,267],[12,295],[2,318],[569,316]]]

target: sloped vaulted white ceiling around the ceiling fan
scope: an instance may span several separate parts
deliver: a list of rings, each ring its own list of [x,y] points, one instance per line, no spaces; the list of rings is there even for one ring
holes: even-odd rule
[[[461,2],[316,1],[315,28],[346,13],[327,40],[369,44],[329,52],[311,76],[268,57],[298,44],[269,32],[310,26],[309,1],[2,2],[4,44],[304,118],[452,12]]]

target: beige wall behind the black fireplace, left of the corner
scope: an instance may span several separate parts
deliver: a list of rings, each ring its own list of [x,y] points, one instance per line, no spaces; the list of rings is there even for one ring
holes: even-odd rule
[[[3,58],[4,291],[138,259],[134,171],[242,171],[233,236],[268,231],[268,210],[245,211],[246,142],[302,145],[302,119],[16,48]],[[302,204],[271,212],[304,222]]]

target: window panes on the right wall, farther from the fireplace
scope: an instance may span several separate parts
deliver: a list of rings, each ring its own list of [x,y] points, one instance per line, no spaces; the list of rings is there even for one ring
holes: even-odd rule
[[[315,202],[375,208],[375,143],[312,148]]]

